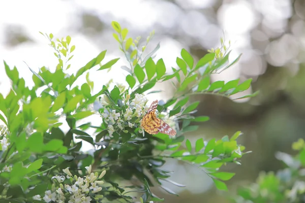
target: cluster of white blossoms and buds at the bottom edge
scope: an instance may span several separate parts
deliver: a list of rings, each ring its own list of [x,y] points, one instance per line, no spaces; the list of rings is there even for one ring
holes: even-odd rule
[[[65,176],[52,177],[52,180],[56,180],[55,183],[57,182],[57,185],[59,184],[59,186],[55,187],[55,184],[53,184],[51,190],[45,191],[43,200],[45,202],[58,203],[64,203],[67,200],[69,203],[91,202],[93,200],[92,197],[97,192],[102,190],[102,187],[99,187],[99,185],[102,185],[104,181],[101,181],[100,179],[103,178],[103,176],[106,174],[106,171],[103,171],[100,176],[98,176],[98,173],[91,172],[91,165],[86,166],[85,168],[88,172],[88,175],[83,178],[77,177],[76,175],[73,177],[69,171],[69,167],[63,170],[63,172],[67,175],[67,179]],[[63,185],[64,182],[68,181],[70,181],[71,184]],[[99,195],[99,198],[102,198],[102,195]],[[33,196],[33,199],[41,200],[41,196],[35,195]]]

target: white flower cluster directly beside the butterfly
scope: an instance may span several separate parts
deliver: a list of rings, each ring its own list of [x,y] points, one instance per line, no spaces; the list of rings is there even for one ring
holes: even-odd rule
[[[125,127],[127,126],[140,127],[141,118],[146,114],[148,109],[146,105],[147,98],[143,94],[135,94],[135,98],[132,100],[130,99],[130,95],[127,94],[123,100],[124,106],[121,108],[121,111],[105,108],[102,113],[104,122],[108,124],[110,137],[112,137],[115,131],[125,131]],[[110,101],[105,95],[102,104],[109,107]]]

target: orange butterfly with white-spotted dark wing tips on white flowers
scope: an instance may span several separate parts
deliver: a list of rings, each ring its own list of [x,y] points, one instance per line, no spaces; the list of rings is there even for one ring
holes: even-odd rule
[[[174,136],[176,131],[171,128],[166,122],[157,118],[156,111],[158,107],[158,100],[151,103],[147,113],[142,119],[141,126],[149,134],[158,134],[158,132]]]

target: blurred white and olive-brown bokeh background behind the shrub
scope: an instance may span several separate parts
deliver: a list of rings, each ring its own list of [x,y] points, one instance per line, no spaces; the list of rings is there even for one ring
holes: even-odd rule
[[[105,61],[122,57],[109,73],[92,71],[90,80],[95,81],[97,92],[109,78],[121,82],[126,76],[120,69],[126,61],[112,37],[112,20],[127,27],[133,38],[145,39],[155,30],[155,38],[147,49],[153,50],[160,42],[156,58],[162,57],[167,69],[176,66],[181,48],[198,60],[207,49],[220,46],[220,37],[225,33],[233,50],[230,60],[240,53],[242,57],[213,79],[253,78],[250,91],[260,90],[260,94],[234,101],[211,95],[192,97],[201,100],[197,114],[210,116],[210,120],[186,137],[195,142],[200,137],[221,138],[241,130],[244,134],[239,142],[253,153],[242,158],[242,165],[225,167],[236,173],[228,182],[229,193],[217,191],[203,171],[174,160],[168,160],[164,167],[175,170],[171,179],[187,187],[164,183],[179,197],[158,188],[154,191],[165,197],[165,202],[228,202],[228,195],[234,194],[238,186],[255,181],[260,171],[281,168],[283,164],[275,153],[293,153],[292,142],[305,137],[304,19],[304,0],[1,1],[0,58],[11,67],[16,65],[26,85],[32,86],[32,73],[23,61],[35,71],[42,66],[54,70],[57,64],[48,41],[39,31],[52,32],[56,38],[70,35],[76,50],[68,73],[76,72],[105,49]],[[79,80],[80,84],[83,82],[85,77]],[[10,82],[3,64],[0,83],[0,92],[6,95]],[[150,95],[149,99],[170,98],[172,89],[165,84],[156,88],[166,89],[166,93]]]

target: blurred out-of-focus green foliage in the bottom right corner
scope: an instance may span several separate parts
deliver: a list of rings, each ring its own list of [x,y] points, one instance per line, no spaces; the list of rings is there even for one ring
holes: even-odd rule
[[[249,186],[240,187],[232,202],[304,202],[305,200],[305,143],[299,139],[292,144],[298,153],[294,156],[278,152],[276,158],[286,167],[273,172],[260,173],[257,181]]]

